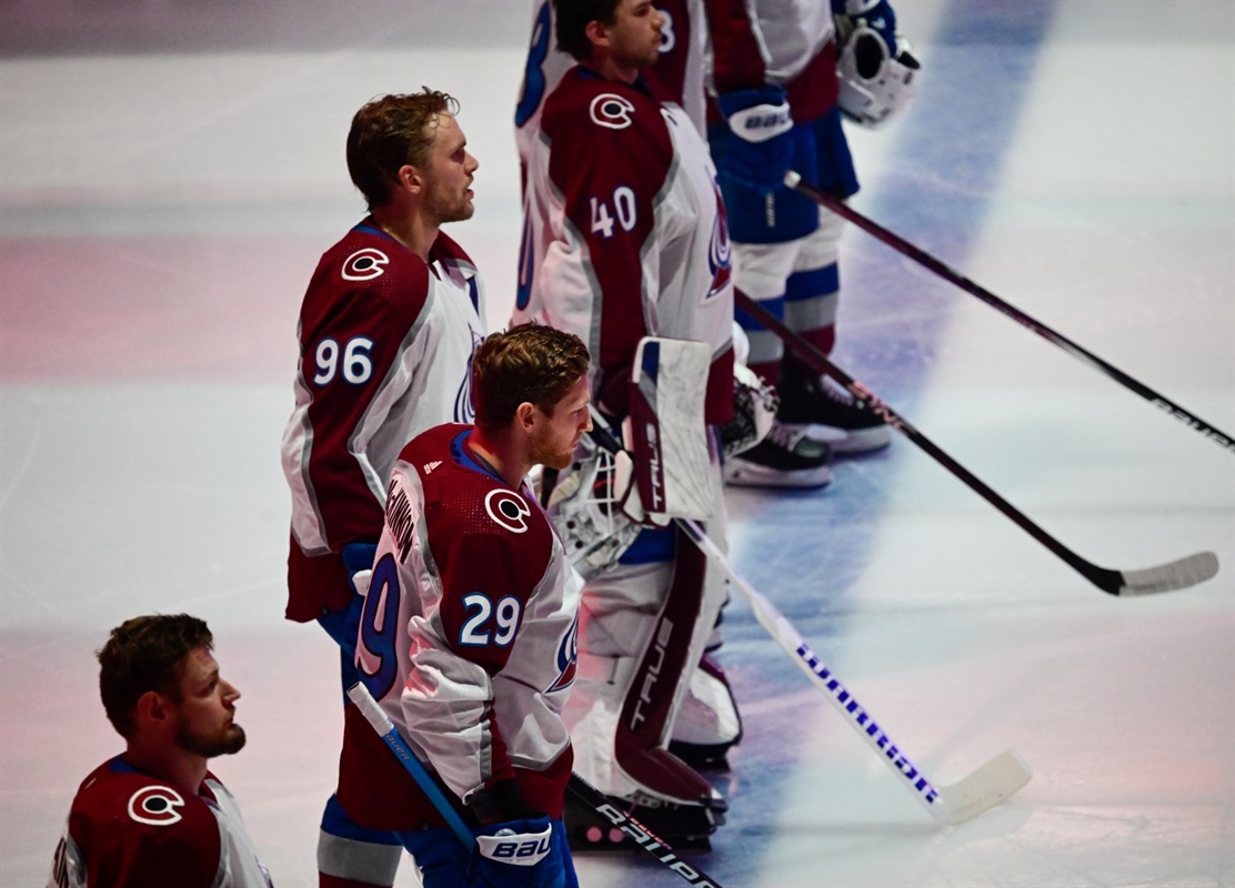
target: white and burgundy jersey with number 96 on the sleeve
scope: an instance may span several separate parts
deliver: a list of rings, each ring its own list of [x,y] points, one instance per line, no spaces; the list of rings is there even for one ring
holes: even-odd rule
[[[471,422],[484,288],[454,241],[426,264],[372,219],[321,257],[300,310],[296,404],[283,435],[291,488],[288,618],[347,604],[338,552],[375,541],[395,457],[417,434]]]

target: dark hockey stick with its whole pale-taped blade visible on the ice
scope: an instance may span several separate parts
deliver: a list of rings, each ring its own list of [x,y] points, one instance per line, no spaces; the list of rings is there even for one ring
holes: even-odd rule
[[[1099,567],[1093,562],[1086,561],[1036,524],[1030,521],[1021,511],[1011,505],[1011,503],[997,494],[977,475],[935,446],[930,438],[914,429],[908,420],[898,415],[892,408],[876,398],[869,389],[829,361],[821,351],[806,342],[794,331],[789,330],[789,327],[787,327],[772,312],[747,296],[745,293],[735,290],[734,296],[742,311],[751,315],[751,317],[784,340],[785,345],[795,351],[808,364],[814,367],[815,371],[819,373],[826,373],[841,383],[841,385],[844,385],[850,394],[871,408],[889,426],[926,451],[944,468],[968,484],[969,488],[976,490],[984,500],[1010,517],[1021,530],[1051,550],[1055,555],[1067,562],[1072,569],[1077,571],[1081,576],[1103,592],[1112,595],[1149,595],[1158,592],[1172,592],[1174,589],[1186,589],[1189,585],[1203,583],[1218,573],[1218,556],[1213,552],[1197,552],[1184,558],[1179,558],[1178,561],[1158,564],[1157,567],[1146,567],[1139,571],[1114,571],[1112,568]]]

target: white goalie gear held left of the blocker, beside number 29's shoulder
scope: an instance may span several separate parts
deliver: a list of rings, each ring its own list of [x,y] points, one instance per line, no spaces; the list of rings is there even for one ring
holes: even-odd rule
[[[587,437],[571,472],[553,488],[547,511],[567,558],[584,579],[616,564],[648,520],[630,453],[610,453]]]

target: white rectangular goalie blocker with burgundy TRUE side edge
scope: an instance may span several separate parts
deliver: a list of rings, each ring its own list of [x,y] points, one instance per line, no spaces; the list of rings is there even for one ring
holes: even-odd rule
[[[711,348],[645,336],[630,380],[630,450],[650,516],[708,519],[713,490],[703,393]]]

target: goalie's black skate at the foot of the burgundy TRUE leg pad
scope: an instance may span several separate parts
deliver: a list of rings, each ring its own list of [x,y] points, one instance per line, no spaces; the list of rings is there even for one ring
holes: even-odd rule
[[[711,851],[709,836],[725,823],[725,811],[729,810],[729,803],[716,790],[698,805],[663,802],[643,794],[630,799],[605,795],[605,799],[674,851]],[[571,793],[566,795],[562,820],[571,851],[576,853],[637,850],[620,827]]]

